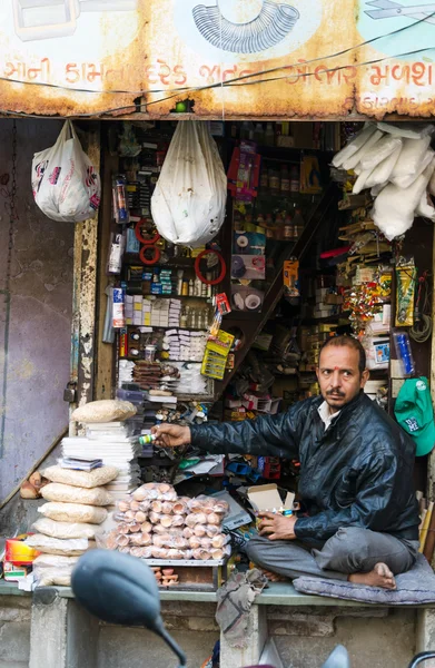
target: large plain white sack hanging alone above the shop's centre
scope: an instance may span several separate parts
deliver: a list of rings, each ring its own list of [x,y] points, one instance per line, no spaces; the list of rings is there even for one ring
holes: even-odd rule
[[[178,121],[151,197],[158,232],[168,242],[202,246],[225,218],[227,177],[205,121]]]

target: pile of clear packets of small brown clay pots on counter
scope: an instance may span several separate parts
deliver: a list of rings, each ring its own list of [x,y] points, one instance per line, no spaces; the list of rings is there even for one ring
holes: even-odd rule
[[[140,559],[220,560],[230,554],[221,529],[227,512],[221,499],[178,497],[169,484],[147,483],[118,501],[105,547]]]

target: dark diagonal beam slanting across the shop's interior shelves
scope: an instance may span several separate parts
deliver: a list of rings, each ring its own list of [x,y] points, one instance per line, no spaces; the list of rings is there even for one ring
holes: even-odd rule
[[[225,389],[231,382],[231,380],[237,374],[240,369],[241,363],[244,362],[246,355],[248,354],[255,338],[265,327],[268,320],[270,320],[274,315],[274,311],[284,294],[284,285],[283,285],[283,266],[286,259],[290,257],[296,257],[299,262],[305,257],[308,253],[313,240],[327,215],[330,210],[337,212],[337,205],[339,199],[339,190],[335,183],[330,183],[329,186],[325,189],[324,195],[317,207],[313,212],[312,216],[308,218],[304,232],[300,238],[296,242],[295,246],[290,246],[288,250],[285,250],[281,256],[278,258],[276,263],[276,272],[275,278],[266,293],[261,313],[253,314],[253,313],[239,313],[233,311],[230,314],[226,315],[223,323],[223,328],[225,331],[231,331],[235,328],[239,328],[243,332],[243,347],[237,351],[235,355],[235,365],[234,369],[226,374],[223,381],[215,382],[215,397],[218,399],[221,396]]]

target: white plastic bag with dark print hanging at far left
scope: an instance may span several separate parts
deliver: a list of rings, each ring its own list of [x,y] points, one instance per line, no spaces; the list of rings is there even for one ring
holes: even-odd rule
[[[79,223],[97,215],[100,177],[70,120],[55,146],[34,154],[31,178],[34,202],[48,218]]]

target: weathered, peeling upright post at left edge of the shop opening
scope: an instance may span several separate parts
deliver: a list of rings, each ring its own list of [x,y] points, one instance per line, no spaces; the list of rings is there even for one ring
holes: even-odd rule
[[[87,139],[83,150],[95,168],[99,170],[100,124],[89,125]],[[76,223],[70,382],[77,387],[77,396],[70,404],[70,412],[93,399],[97,246],[98,219]],[[69,433],[77,434],[76,423],[70,423]]]

